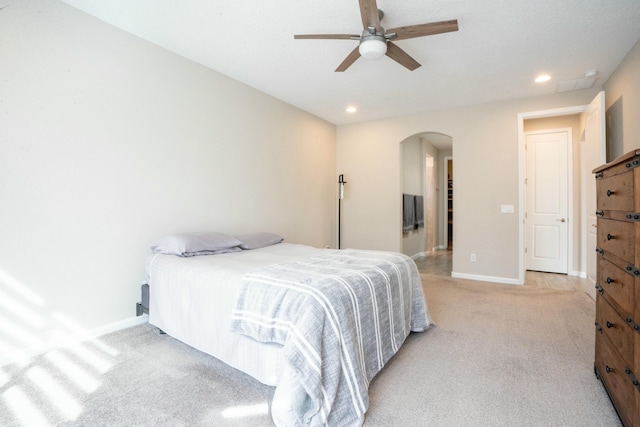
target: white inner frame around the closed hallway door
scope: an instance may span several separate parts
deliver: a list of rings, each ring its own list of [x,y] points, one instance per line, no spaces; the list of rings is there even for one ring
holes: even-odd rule
[[[549,128],[549,129],[542,129],[542,130],[535,130],[535,131],[525,131],[524,132],[524,139],[525,139],[525,144],[527,142],[527,136],[528,135],[544,135],[544,134],[548,134],[548,133],[566,133],[567,135],[567,145],[565,147],[566,150],[566,156],[567,156],[567,170],[566,170],[566,174],[567,174],[567,275],[575,275],[572,274],[572,270],[570,268],[570,264],[571,264],[571,260],[573,259],[573,239],[574,239],[574,233],[573,233],[573,220],[575,218],[574,213],[573,213],[573,191],[574,191],[574,186],[573,186],[573,129],[570,127],[563,127],[563,128]],[[527,156],[529,154],[527,153],[527,150],[525,149],[525,177],[527,176]],[[531,184],[531,182],[527,182],[527,184]],[[528,188],[525,186],[524,190],[525,190],[525,214],[526,209],[527,209],[527,197],[528,194],[526,193],[528,191]],[[527,247],[527,249],[531,249],[531,244],[529,242],[529,244],[527,244],[527,221],[530,221],[531,218],[526,217],[524,218],[524,225],[525,225],[525,247]],[[525,262],[524,262],[524,268],[525,271],[527,270],[527,267],[530,267],[527,265],[527,257],[525,256]]]

